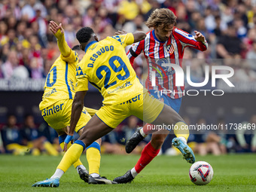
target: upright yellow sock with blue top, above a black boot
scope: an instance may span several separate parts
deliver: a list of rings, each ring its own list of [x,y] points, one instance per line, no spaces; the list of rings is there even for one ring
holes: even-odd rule
[[[100,158],[100,145],[97,142],[93,142],[91,145],[87,147],[89,175],[92,173],[99,174]]]

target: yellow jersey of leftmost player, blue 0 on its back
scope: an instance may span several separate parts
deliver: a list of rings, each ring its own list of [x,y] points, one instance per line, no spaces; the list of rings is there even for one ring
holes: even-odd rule
[[[60,54],[47,75],[43,99],[39,104],[40,110],[62,99],[74,99],[77,65],[78,54],[75,51],[72,50],[67,57]]]

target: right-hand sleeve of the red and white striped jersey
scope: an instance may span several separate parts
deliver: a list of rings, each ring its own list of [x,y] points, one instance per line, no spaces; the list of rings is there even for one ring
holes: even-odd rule
[[[207,50],[208,43],[197,41],[194,38],[194,35],[190,35],[188,32],[184,32],[181,29],[175,28],[175,35],[178,37],[178,40],[181,42],[183,47],[194,47],[197,50]]]

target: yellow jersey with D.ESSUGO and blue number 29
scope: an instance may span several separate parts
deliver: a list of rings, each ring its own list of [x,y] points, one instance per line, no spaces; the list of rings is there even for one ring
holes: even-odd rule
[[[133,42],[133,34],[128,33],[87,44],[76,69],[76,91],[88,90],[89,81],[102,93],[105,105],[120,104],[142,94],[142,84],[124,50]]]

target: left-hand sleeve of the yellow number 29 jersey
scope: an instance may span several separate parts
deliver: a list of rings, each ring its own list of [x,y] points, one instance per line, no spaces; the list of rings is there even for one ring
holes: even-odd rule
[[[81,66],[78,65],[76,69],[75,91],[88,90],[88,81],[88,76],[83,72]]]

